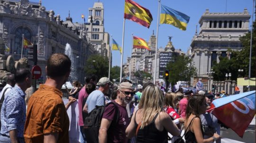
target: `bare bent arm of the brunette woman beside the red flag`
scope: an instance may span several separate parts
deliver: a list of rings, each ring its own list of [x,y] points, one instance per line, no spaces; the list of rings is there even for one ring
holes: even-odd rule
[[[212,137],[208,139],[203,139],[202,131],[201,131],[201,120],[200,118],[195,118],[192,123],[192,131],[195,134],[197,143],[213,143],[215,140],[219,139],[221,136],[218,134],[214,134]]]

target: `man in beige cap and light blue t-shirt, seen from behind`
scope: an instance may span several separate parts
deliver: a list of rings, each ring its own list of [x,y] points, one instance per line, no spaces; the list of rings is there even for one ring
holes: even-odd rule
[[[90,113],[95,106],[104,106],[105,105],[105,96],[104,94],[110,90],[110,79],[108,77],[102,77],[97,83],[99,86],[98,90],[93,91],[87,98],[87,101],[83,107],[83,111]]]

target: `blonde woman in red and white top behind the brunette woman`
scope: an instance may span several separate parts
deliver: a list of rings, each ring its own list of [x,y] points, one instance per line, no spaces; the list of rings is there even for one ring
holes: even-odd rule
[[[165,101],[164,101],[164,110],[165,112],[172,118],[174,123],[181,128],[180,123],[184,122],[184,119],[180,117],[180,115],[175,111],[175,103],[177,98],[176,98],[176,93],[165,93]]]

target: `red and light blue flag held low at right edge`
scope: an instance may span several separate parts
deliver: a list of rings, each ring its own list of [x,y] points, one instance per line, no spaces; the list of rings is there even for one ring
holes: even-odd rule
[[[230,102],[227,103],[228,101]],[[255,91],[217,99],[212,102],[211,109],[213,109],[213,115],[225,126],[243,137],[255,116]]]

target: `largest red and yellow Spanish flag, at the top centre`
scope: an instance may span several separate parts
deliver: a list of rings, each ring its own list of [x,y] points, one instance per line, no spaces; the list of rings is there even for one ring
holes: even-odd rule
[[[125,0],[124,18],[149,28],[153,17],[150,11],[132,0]]]

